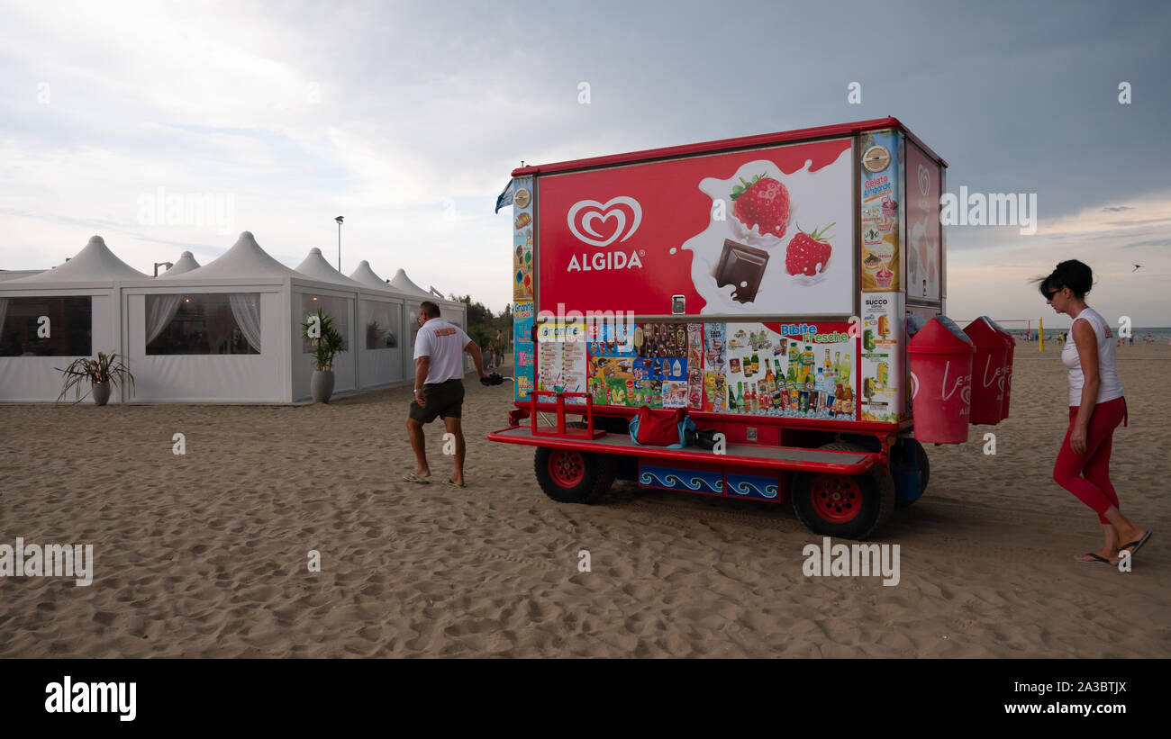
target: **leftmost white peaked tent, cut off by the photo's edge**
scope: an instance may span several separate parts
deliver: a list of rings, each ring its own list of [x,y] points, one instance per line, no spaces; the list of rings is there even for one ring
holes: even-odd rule
[[[121,291],[139,279],[149,277],[94,236],[54,269],[0,282],[0,401],[56,400],[56,367],[121,354]]]

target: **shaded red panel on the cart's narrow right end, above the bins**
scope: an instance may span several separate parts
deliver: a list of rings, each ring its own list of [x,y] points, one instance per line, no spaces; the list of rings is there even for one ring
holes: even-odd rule
[[[943,260],[939,223],[940,167],[906,143],[906,297],[939,299]]]

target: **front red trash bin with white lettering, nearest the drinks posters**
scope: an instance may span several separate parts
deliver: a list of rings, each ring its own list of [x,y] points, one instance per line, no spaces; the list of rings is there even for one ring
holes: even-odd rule
[[[937,316],[906,345],[911,365],[915,437],[920,442],[967,441],[975,345],[951,318]]]

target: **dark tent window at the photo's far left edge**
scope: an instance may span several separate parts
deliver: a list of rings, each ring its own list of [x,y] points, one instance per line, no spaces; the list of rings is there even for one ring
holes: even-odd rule
[[[93,301],[88,295],[0,298],[0,357],[90,357]]]

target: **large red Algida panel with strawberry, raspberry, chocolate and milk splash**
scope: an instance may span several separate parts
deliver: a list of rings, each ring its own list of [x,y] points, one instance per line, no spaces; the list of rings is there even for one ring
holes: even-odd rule
[[[849,316],[851,151],[838,138],[542,177],[542,305],[667,316],[679,295],[690,316]]]

